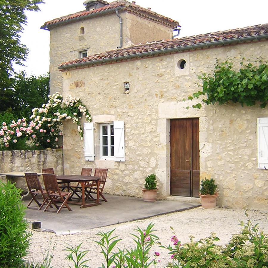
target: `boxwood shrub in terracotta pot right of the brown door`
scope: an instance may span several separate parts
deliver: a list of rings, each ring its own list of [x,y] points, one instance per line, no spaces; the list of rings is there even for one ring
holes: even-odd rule
[[[215,180],[210,179],[201,181],[200,188],[200,199],[202,208],[216,208],[216,199],[218,196],[217,193],[217,185],[215,184]]]

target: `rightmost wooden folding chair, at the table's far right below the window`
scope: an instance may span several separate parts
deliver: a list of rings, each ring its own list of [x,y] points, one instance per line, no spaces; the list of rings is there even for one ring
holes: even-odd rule
[[[102,191],[106,183],[107,172],[108,172],[108,169],[95,169],[95,173],[94,173],[95,177],[100,177],[99,195],[103,198],[103,199],[100,199],[100,201],[105,201],[105,202],[107,202],[107,200],[103,196]],[[85,191],[86,191],[86,198],[91,197],[91,199],[94,199],[92,194],[97,193],[97,184],[95,182],[90,182],[89,184],[85,183]]]

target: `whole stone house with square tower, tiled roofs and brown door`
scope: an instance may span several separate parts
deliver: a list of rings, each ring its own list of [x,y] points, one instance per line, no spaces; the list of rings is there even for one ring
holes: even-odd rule
[[[135,2],[84,4],[42,26],[51,36],[51,92],[80,97],[92,115],[84,141],[64,124],[65,173],[108,168],[106,192],[136,197],[156,173],[158,198],[190,201],[213,177],[218,205],[267,209],[267,108],[187,110],[194,102],[183,99],[216,59],[236,68],[243,57],[267,61],[268,24],[172,39],[178,22]]]

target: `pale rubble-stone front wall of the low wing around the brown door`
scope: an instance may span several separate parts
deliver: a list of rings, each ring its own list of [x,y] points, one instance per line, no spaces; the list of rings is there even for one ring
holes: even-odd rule
[[[257,169],[257,118],[268,109],[240,105],[209,105],[186,109],[183,99],[198,90],[198,74],[211,72],[216,58],[229,58],[239,68],[242,57],[267,60],[268,42],[253,42],[143,60],[132,60],[63,73],[63,95],[81,98],[92,114],[95,130],[94,162],[84,161],[83,141],[76,127],[64,124],[64,168],[109,169],[106,192],[141,196],[144,178],[158,177],[158,197],[169,196],[170,119],[198,117],[200,179],[213,177],[219,186],[218,205],[233,208],[268,207],[267,171]],[[186,60],[186,68],[178,62]],[[83,81],[76,87],[76,81]],[[124,82],[130,93],[124,94]],[[98,158],[98,124],[123,120],[126,161]]]

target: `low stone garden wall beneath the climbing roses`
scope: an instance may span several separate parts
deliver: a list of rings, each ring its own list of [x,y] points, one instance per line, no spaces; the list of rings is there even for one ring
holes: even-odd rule
[[[53,167],[56,175],[63,174],[63,153],[61,149],[2,151],[0,155],[0,173],[14,171],[41,173],[42,168]],[[3,182],[6,181],[5,176],[0,176],[0,179]]]

